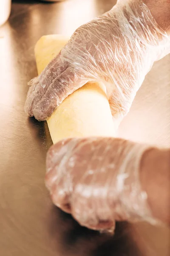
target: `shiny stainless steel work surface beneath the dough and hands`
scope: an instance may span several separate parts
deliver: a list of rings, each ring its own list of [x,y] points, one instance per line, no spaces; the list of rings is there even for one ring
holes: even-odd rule
[[[24,3],[26,2],[26,3]],[[37,75],[34,45],[45,34],[71,34],[111,9],[114,0],[14,1],[0,27],[0,255],[169,256],[170,230],[119,223],[115,236],[80,227],[54,207],[44,186],[51,139],[45,122],[28,118],[27,82]],[[170,56],[157,62],[119,135],[170,146]]]

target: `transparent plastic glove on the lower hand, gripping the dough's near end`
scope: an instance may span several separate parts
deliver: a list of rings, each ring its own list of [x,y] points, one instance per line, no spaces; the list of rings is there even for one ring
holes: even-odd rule
[[[55,205],[83,226],[114,228],[115,221],[155,223],[142,191],[140,165],[151,147],[115,138],[67,139],[47,155],[45,183]]]

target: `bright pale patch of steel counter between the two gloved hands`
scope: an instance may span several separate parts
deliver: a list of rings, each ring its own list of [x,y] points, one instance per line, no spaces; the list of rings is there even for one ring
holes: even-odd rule
[[[147,74],[119,136],[170,147],[170,55],[157,61]]]

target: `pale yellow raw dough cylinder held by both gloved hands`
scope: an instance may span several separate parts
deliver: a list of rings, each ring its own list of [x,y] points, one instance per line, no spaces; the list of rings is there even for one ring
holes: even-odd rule
[[[69,38],[45,35],[35,46],[38,74],[60,52]],[[113,137],[115,128],[104,89],[87,83],[69,95],[47,120],[53,143],[73,137]]]

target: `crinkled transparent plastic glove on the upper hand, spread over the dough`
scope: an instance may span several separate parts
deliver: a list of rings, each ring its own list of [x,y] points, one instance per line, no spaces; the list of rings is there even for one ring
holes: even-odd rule
[[[119,0],[109,12],[80,26],[30,82],[25,111],[45,120],[69,94],[99,81],[114,118],[121,121],[153,62],[169,52],[170,38],[147,6],[141,0]]]

